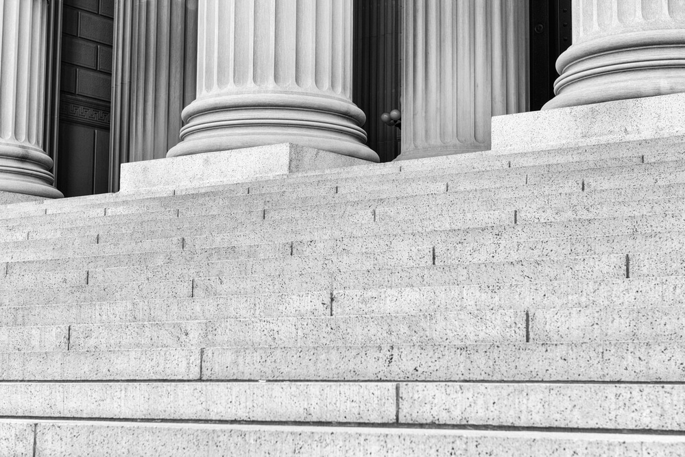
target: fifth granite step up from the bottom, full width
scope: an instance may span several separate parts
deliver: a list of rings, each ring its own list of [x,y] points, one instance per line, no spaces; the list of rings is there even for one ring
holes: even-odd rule
[[[685,307],[684,277],[629,280],[469,284],[402,288],[331,289],[304,293],[260,293],[141,299],[127,288],[91,286],[79,302],[51,288],[23,291],[0,307],[0,325],[69,325],[222,319],[449,313],[468,310],[564,310],[568,308]],[[104,289],[106,293],[97,293]],[[69,289],[68,289],[69,290]],[[82,293],[82,289],[78,289]],[[40,294],[43,295],[40,295]],[[119,297],[110,301],[108,297]],[[149,293],[154,297],[154,293]],[[27,296],[29,299],[24,299]],[[78,296],[76,296],[78,297]],[[67,302],[60,303],[60,299]],[[114,299],[112,299],[114,300]],[[14,304],[14,305],[12,305]],[[579,312],[574,309],[573,312]],[[558,313],[557,313],[558,314]]]

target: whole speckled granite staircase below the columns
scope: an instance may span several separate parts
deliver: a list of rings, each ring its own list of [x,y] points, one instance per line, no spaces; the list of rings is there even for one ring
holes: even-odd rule
[[[0,455],[685,455],[684,197],[661,140],[0,206]]]

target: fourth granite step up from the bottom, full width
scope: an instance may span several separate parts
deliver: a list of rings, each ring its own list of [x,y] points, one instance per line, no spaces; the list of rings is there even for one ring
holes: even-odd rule
[[[71,325],[69,349],[213,346],[454,345],[685,340],[685,308],[467,310],[431,314],[277,317]],[[64,349],[67,329],[4,327],[4,351]],[[14,337],[14,335],[16,338]],[[47,336],[46,336],[47,335]],[[54,347],[51,345],[55,345]]]

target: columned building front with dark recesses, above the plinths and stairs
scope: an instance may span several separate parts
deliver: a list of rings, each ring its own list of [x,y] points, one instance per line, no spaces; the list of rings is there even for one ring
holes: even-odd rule
[[[285,141],[375,162],[481,151],[492,116],[685,90],[676,1],[0,10],[0,192],[17,199],[116,191],[125,162]],[[401,131],[380,119],[394,108]]]

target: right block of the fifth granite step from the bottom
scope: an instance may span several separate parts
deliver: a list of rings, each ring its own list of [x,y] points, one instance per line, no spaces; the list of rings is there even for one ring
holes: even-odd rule
[[[333,292],[333,314],[453,312],[455,310],[635,308],[685,306],[685,277],[517,282],[440,287],[357,288]]]

